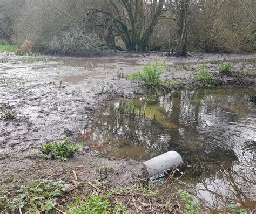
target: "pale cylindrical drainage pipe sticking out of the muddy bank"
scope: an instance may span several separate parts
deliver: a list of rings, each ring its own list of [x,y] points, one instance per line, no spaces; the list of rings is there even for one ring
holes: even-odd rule
[[[154,157],[143,163],[146,166],[149,177],[152,177],[157,175],[159,172],[169,169],[182,162],[183,160],[177,151],[168,151],[167,153]]]

